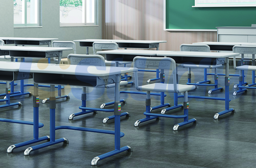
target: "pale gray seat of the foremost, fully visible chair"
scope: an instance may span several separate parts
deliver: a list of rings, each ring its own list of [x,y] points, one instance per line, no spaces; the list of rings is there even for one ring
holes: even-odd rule
[[[177,84],[177,89],[178,92],[185,92],[185,91],[189,91],[189,90],[193,90],[196,87],[194,85],[180,85]],[[145,91],[158,91],[158,92],[171,92],[171,93],[175,93],[174,88],[173,88],[173,84],[167,84],[167,83],[152,83],[149,85],[143,85],[143,86],[139,86],[140,90],[145,90]]]

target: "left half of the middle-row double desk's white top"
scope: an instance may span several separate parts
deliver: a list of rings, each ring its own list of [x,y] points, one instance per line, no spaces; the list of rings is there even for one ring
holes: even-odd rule
[[[147,56],[156,56],[158,53],[164,51],[159,50],[130,50],[130,49],[117,49],[117,50],[108,50],[108,51],[98,51],[98,54],[129,54],[129,55],[147,55]]]

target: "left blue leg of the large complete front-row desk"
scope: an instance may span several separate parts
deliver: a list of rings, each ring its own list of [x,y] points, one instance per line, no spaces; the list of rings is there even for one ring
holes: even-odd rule
[[[50,142],[42,143],[39,145],[35,145],[32,147],[29,147],[25,150],[24,155],[28,156],[30,155],[31,151],[35,151],[47,146],[51,146],[57,143],[63,142],[64,144],[68,143],[68,140],[66,138],[60,138],[55,140],[55,109],[56,109],[56,99],[54,95],[54,89],[55,86],[51,85],[51,96],[50,96]]]

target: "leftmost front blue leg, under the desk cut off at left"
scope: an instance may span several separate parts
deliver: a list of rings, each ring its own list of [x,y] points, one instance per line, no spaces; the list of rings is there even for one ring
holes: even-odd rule
[[[23,147],[23,146],[26,146],[26,145],[29,145],[29,144],[33,144],[33,143],[36,143],[36,142],[41,142],[41,141],[49,140],[49,138],[50,138],[49,136],[44,136],[44,137],[40,137],[39,138],[39,128],[43,127],[43,124],[39,123],[38,84],[35,84],[34,95],[35,96],[33,96],[33,122],[28,122],[28,121],[22,121],[22,122],[18,121],[18,122],[15,122],[14,121],[14,123],[22,123],[22,124],[33,125],[33,137],[34,137],[34,139],[9,146],[7,151],[6,151],[7,153],[12,153],[13,150],[16,149],[16,148]]]

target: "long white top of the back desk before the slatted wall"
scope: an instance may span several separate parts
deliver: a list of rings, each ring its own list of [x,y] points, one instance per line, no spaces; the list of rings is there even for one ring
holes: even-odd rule
[[[154,40],[105,40],[105,39],[85,39],[85,40],[74,40],[76,42],[115,42],[115,43],[166,43],[167,41],[154,41]]]

